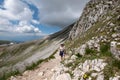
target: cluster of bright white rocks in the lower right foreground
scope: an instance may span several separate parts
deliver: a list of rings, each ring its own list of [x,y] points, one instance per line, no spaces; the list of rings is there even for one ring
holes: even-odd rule
[[[107,63],[102,59],[86,60],[84,63],[80,63],[73,71],[74,80],[82,80],[85,73],[89,73],[88,80],[91,80],[91,77],[97,77],[96,80],[104,80],[102,70],[106,65]]]

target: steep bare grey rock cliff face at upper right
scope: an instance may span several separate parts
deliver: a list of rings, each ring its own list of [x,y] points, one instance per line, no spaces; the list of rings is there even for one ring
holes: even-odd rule
[[[112,20],[113,18],[119,19],[119,13],[120,0],[91,0],[84,8],[80,19],[70,31],[69,38],[74,39],[83,35],[99,21],[102,21],[103,23],[106,20]],[[118,24],[115,24],[115,26],[118,26]]]

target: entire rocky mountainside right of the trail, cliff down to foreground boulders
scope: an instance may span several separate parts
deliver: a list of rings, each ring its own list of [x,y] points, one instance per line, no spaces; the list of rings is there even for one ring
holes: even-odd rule
[[[50,80],[120,80],[120,0],[91,0],[65,42]]]

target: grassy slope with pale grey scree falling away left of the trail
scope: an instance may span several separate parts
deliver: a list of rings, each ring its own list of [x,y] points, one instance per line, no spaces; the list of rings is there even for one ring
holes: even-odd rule
[[[43,39],[15,44],[0,52],[0,80],[24,70],[48,58],[69,35],[72,25]]]

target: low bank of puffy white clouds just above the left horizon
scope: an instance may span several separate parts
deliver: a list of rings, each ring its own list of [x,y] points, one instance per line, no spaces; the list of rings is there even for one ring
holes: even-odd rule
[[[39,33],[42,34],[42,32],[39,30],[39,28],[31,25],[27,21],[21,21],[18,25],[11,24],[6,19],[0,18],[0,32],[11,32],[11,33]]]

